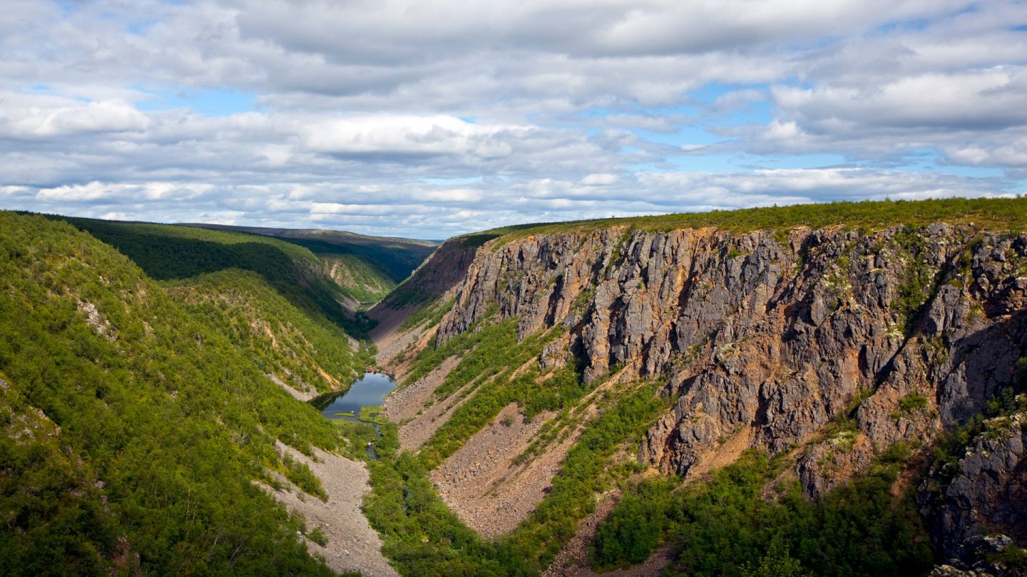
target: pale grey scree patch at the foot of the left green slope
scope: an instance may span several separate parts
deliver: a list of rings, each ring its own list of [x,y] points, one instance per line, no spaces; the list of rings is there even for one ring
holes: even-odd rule
[[[364,494],[371,490],[370,475],[364,464],[319,449],[314,449],[314,459],[311,459],[280,441],[276,448],[310,467],[329,496],[327,502],[310,497],[280,476],[278,482],[287,489],[275,491],[258,484],[289,509],[300,511],[308,532],[316,527],[321,529],[328,544],[321,546],[304,537],[310,552],[322,556],[336,573],[398,576],[382,555],[381,539],[360,510]]]

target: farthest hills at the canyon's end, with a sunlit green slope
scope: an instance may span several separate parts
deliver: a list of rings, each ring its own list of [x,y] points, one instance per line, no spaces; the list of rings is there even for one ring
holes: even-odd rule
[[[366,236],[346,231],[190,225],[279,238],[308,248],[347,297],[363,307],[382,300],[403,282],[438,242]]]

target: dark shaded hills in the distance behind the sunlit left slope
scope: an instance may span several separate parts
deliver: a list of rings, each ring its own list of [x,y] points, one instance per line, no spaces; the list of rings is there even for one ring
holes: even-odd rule
[[[157,280],[228,269],[258,273],[303,310],[364,338],[363,312],[434,251],[435,243],[340,231],[164,225],[49,216],[111,244]]]

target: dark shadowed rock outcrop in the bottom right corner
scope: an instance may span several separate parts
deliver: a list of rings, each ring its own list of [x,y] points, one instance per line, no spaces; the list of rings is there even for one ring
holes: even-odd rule
[[[1027,413],[997,417],[966,448],[921,484],[920,505],[936,547],[962,557],[967,543],[995,531],[1027,545]]]

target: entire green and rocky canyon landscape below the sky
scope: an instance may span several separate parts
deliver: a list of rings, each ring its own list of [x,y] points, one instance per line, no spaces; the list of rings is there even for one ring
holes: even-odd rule
[[[1027,566],[1027,199],[438,247],[0,221],[13,574]],[[369,422],[307,402],[367,371]]]

